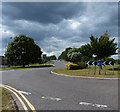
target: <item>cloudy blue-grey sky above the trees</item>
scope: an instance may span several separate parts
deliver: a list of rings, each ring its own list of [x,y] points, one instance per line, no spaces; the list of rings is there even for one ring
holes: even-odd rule
[[[19,34],[34,38],[43,54],[59,56],[67,47],[90,42],[106,30],[118,40],[117,2],[3,2],[2,48]],[[1,28],[2,26],[2,28]]]

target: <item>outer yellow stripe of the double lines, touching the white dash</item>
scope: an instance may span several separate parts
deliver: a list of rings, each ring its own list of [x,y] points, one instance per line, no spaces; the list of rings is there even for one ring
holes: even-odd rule
[[[26,103],[28,104],[28,106],[30,107],[30,109],[31,109],[33,112],[36,112],[34,106],[28,101],[28,99],[27,99],[22,93],[18,92],[18,90],[16,90],[16,89],[13,88],[13,87],[10,87],[10,86],[8,86],[8,85],[6,85],[6,87],[8,87],[8,88],[16,91],[17,93],[19,93],[19,94],[22,96],[22,98],[26,101]]]

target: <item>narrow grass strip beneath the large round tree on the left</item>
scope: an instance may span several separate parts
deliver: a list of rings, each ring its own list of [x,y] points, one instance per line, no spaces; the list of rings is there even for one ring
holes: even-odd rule
[[[15,70],[15,69],[30,69],[30,68],[40,68],[40,67],[52,67],[51,64],[30,64],[29,66],[11,66],[11,67],[1,67],[0,70]]]

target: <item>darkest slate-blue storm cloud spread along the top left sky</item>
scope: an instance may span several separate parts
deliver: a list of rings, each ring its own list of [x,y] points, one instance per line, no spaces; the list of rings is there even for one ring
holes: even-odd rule
[[[15,19],[25,19],[40,23],[59,23],[63,19],[70,19],[82,14],[85,8],[83,3],[59,2],[23,2],[3,3],[4,16]]]

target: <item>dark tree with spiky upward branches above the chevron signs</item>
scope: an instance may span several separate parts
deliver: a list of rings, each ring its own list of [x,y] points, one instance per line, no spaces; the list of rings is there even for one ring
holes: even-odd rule
[[[114,43],[114,39],[109,39],[109,33],[106,31],[100,38],[90,36],[91,51],[94,55],[97,55],[98,59],[105,59],[111,55],[116,54],[117,44]]]

